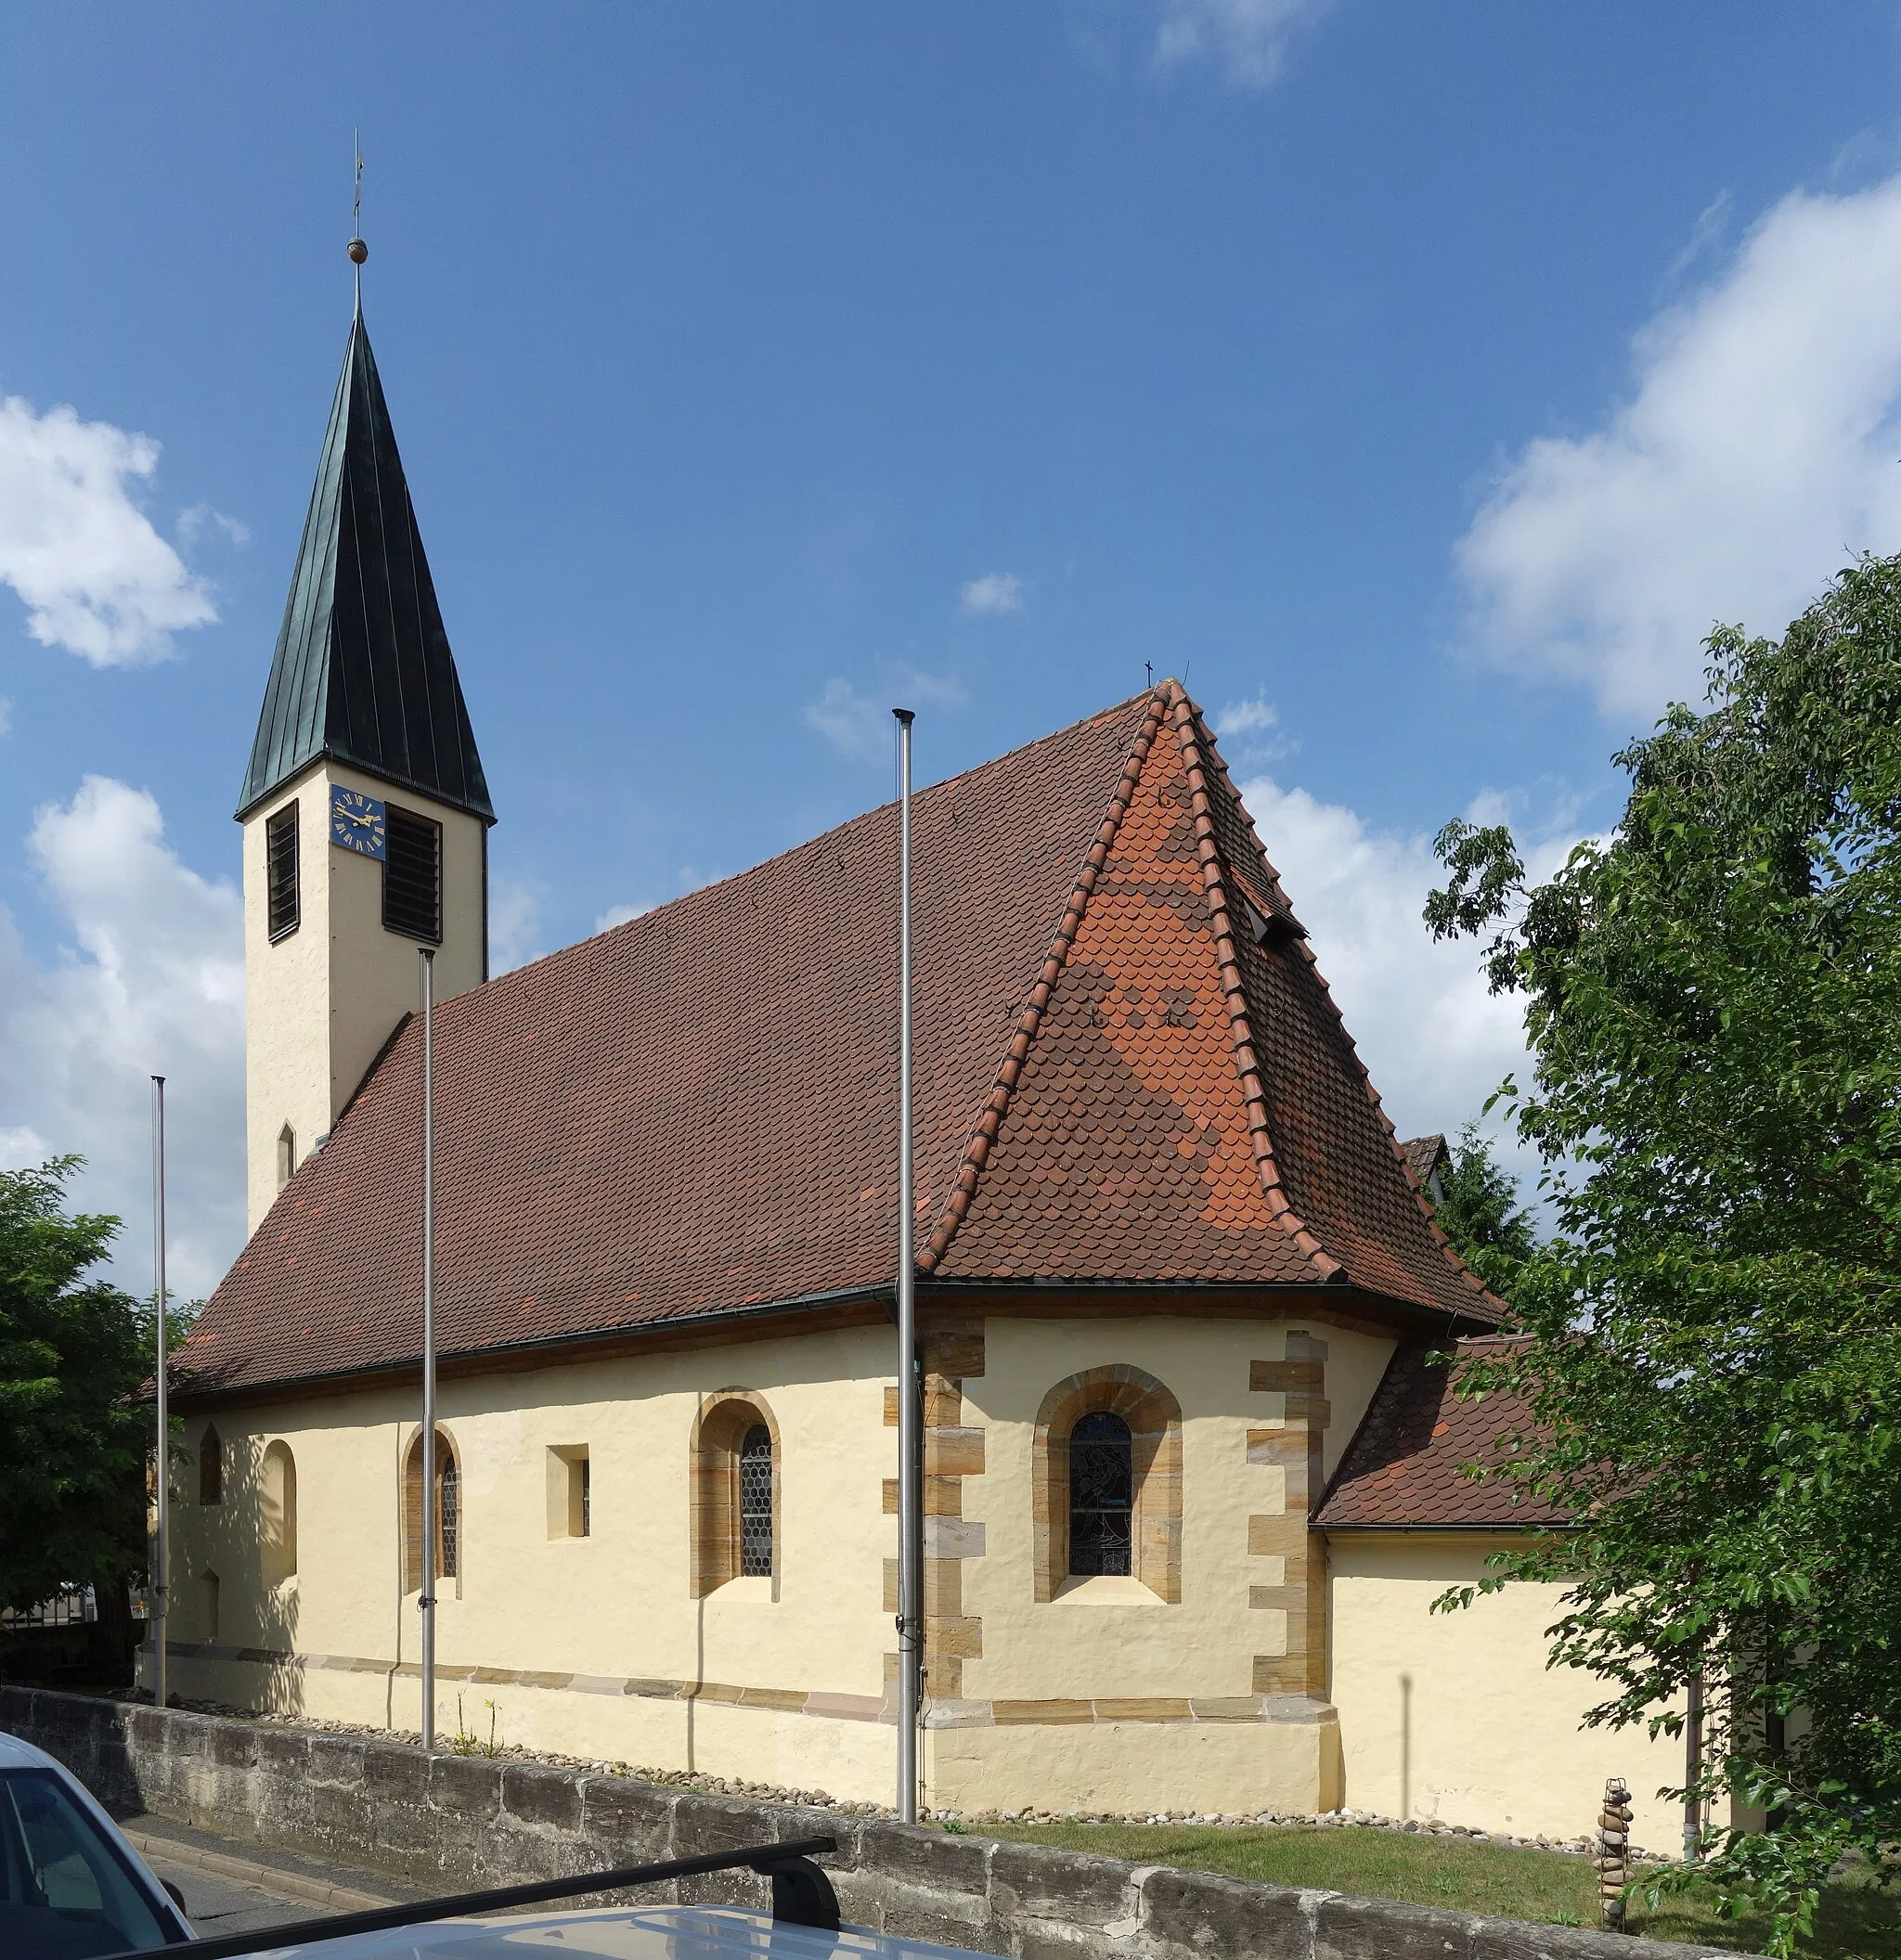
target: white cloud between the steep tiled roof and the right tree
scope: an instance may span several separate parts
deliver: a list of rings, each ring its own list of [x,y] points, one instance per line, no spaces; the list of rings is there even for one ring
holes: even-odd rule
[[[1525,1064],[1523,1004],[1486,992],[1474,941],[1435,943],[1427,931],[1427,892],[1442,882],[1429,839],[1368,829],[1352,809],[1268,776],[1241,796],[1399,1135],[1478,1117]],[[1535,849],[1533,876],[1548,876],[1570,845],[1560,835]],[[1497,1119],[1484,1127],[1501,1135]]]

